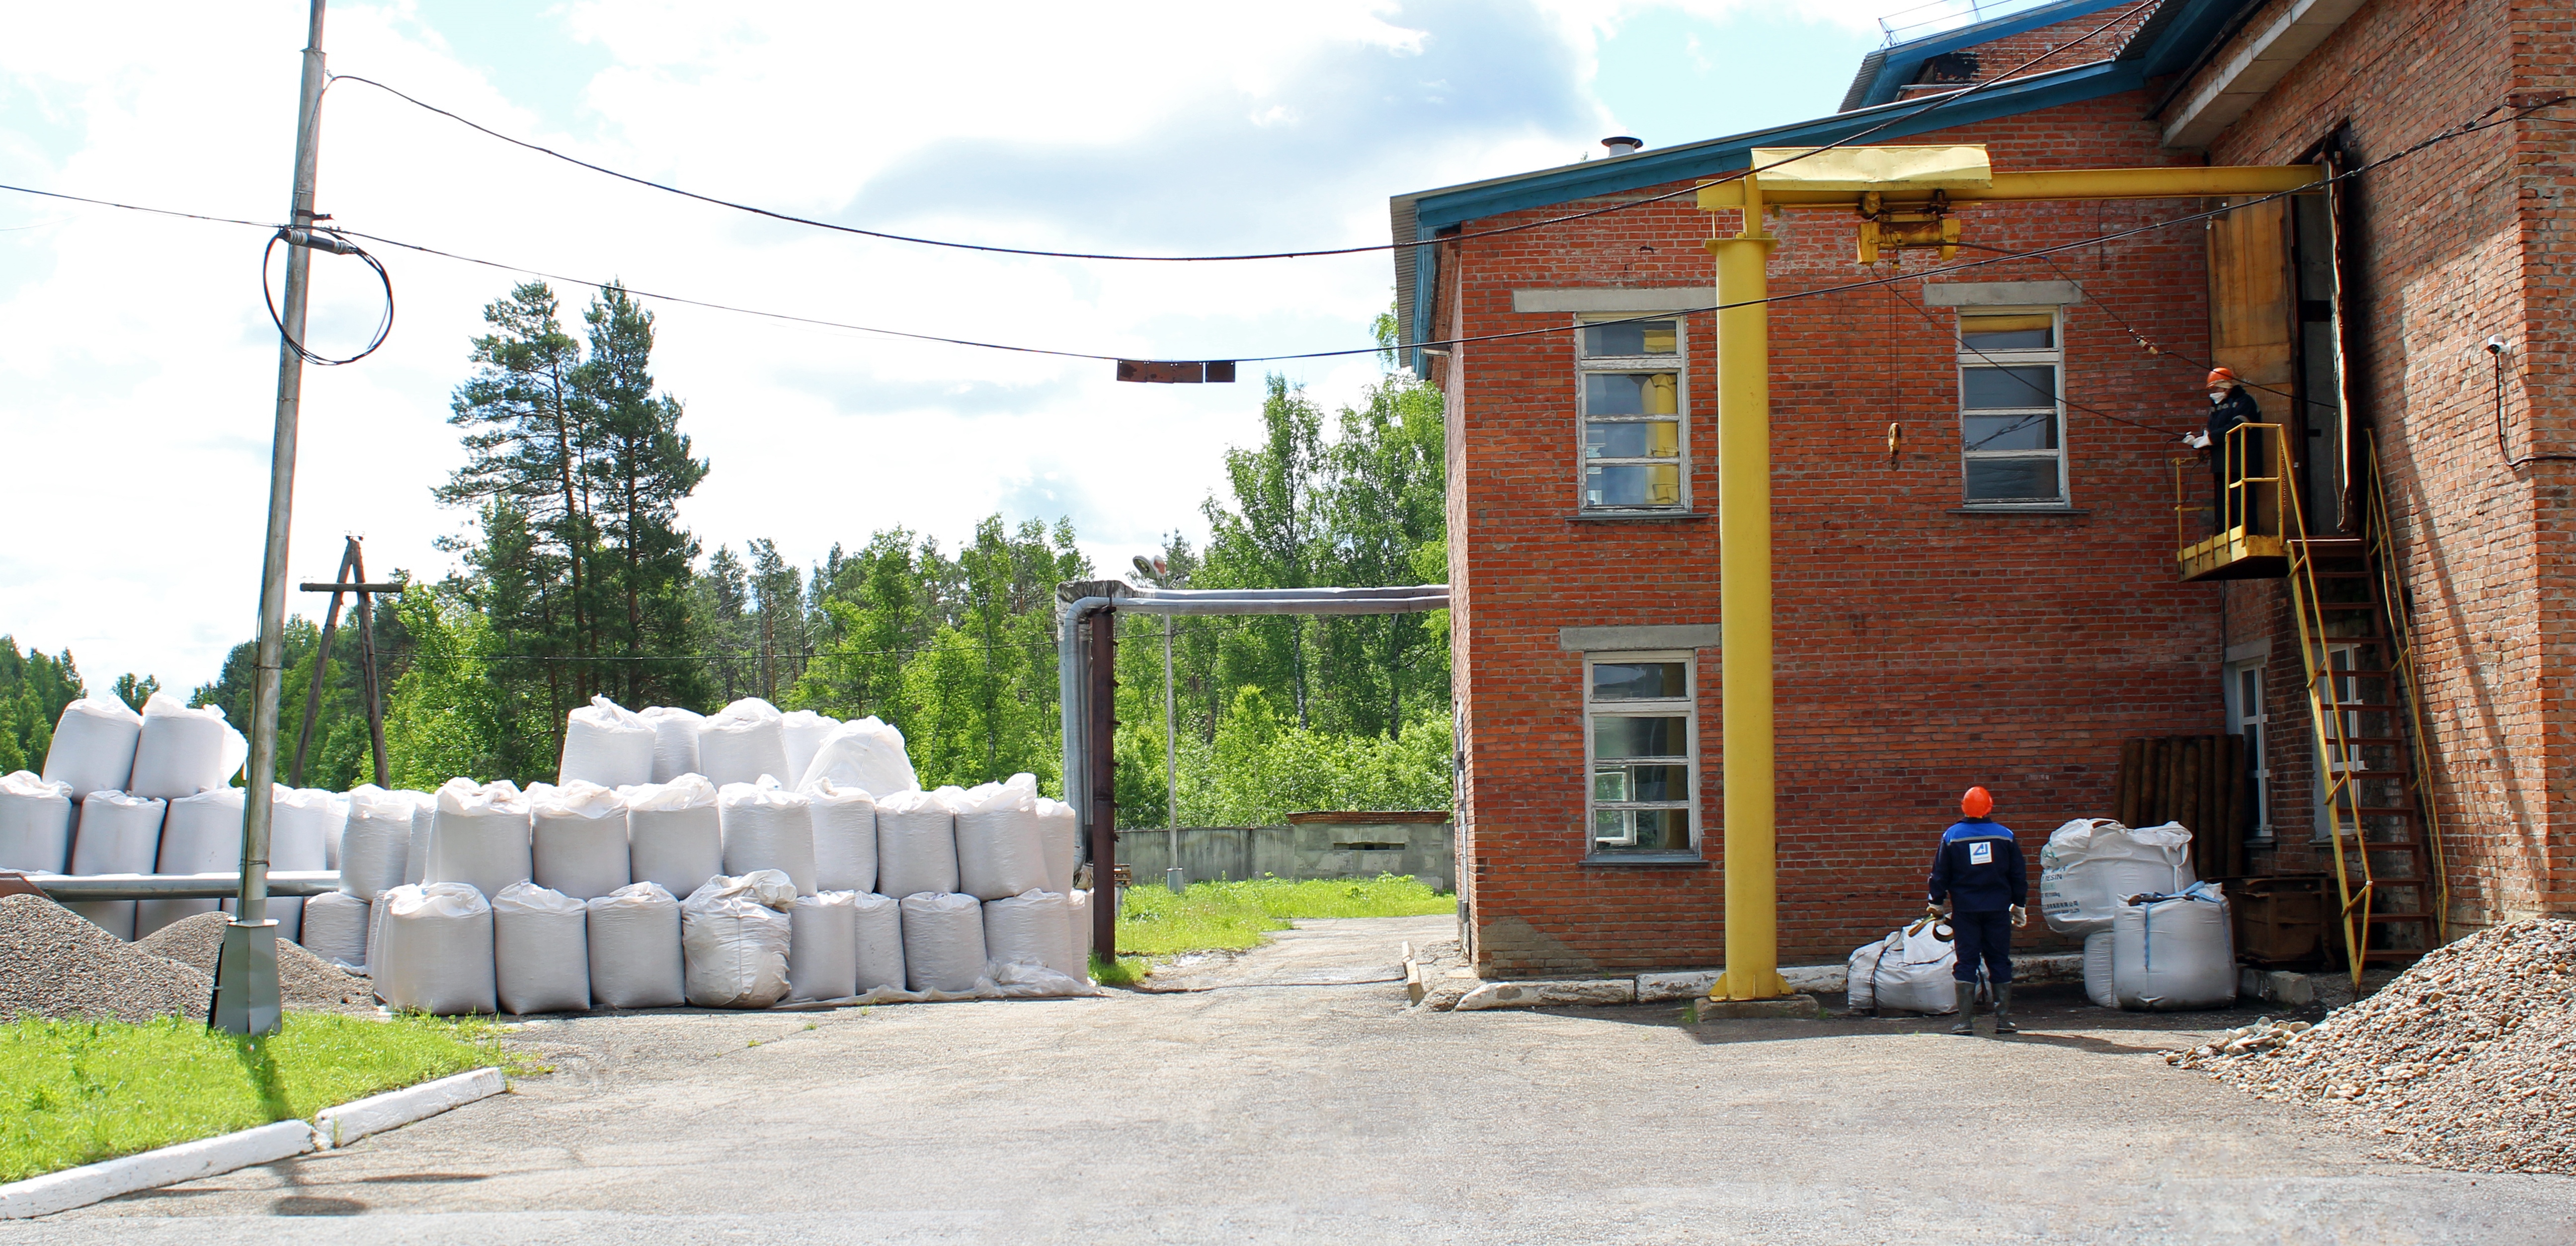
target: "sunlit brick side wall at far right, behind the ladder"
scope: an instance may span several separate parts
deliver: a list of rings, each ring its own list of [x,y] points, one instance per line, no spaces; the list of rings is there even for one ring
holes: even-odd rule
[[[2267,26],[2282,5],[2275,0],[2249,28]],[[2509,93],[2566,90],[2576,64],[2571,28],[2571,5],[2365,5],[2221,134],[2210,160],[2303,160],[2339,126],[2360,160],[2388,157],[2488,113]],[[2576,914],[2568,893],[2576,463],[2506,463],[2496,445],[2494,371],[2478,350],[2488,335],[2514,345],[2504,384],[2512,453],[2576,451],[2568,142],[2568,126],[2506,124],[2372,170],[2352,188],[2349,391],[2378,435],[2414,600],[2455,929]],[[2287,762],[2272,790],[2285,821],[2272,865],[2326,868],[2308,847],[2313,741],[2280,597],[2277,582],[2233,587],[2231,641],[2272,638],[2269,711]]]

